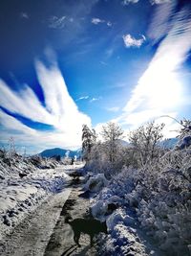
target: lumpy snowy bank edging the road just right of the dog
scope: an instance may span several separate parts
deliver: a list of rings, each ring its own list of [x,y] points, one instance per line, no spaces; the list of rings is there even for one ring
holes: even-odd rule
[[[107,223],[109,236],[100,248],[103,255],[162,255],[141,231],[135,212],[108,187],[92,200],[92,214]]]

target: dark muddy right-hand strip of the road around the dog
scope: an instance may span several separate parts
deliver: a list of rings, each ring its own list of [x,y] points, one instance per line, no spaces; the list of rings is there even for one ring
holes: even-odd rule
[[[80,187],[75,187],[67,199],[45,250],[45,256],[96,255],[96,244],[93,247],[90,246],[89,236],[81,234],[79,240],[81,247],[76,246],[71,226],[65,223],[65,217],[68,214],[73,219],[89,215],[90,200],[80,197],[81,194]]]

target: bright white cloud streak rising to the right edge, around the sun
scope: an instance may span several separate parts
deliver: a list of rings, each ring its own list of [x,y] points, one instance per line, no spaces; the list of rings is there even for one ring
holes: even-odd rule
[[[187,104],[179,70],[191,50],[189,13],[189,10],[182,9],[172,17],[172,27],[132,90],[123,113],[117,117],[116,121],[121,125],[136,128],[151,119],[158,119],[159,116],[176,117],[180,107]],[[170,122],[172,128],[176,127],[172,120]]]

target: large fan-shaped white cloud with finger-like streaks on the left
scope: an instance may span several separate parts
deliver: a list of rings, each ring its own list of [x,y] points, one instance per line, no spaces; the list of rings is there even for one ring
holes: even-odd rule
[[[36,60],[35,67],[46,106],[41,105],[29,86],[26,85],[22,91],[15,92],[4,81],[0,81],[0,105],[33,122],[52,125],[53,130],[29,128],[11,115],[0,111],[1,126],[5,128],[3,139],[13,135],[15,141],[30,143],[36,147],[39,144],[45,148],[80,147],[82,125],[91,126],[91,119],[80,112],[74,104],[55,62],[47,68],[42,62]]]

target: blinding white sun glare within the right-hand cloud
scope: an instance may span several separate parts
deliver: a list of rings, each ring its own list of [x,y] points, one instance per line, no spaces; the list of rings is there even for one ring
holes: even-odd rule
[[[148,99],[148,106],[169,109],[180,104],[181,83],[168,62],[156,61],[149,67],[139,83],[141,94]]]

